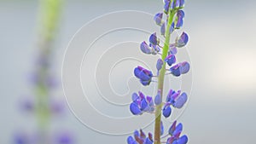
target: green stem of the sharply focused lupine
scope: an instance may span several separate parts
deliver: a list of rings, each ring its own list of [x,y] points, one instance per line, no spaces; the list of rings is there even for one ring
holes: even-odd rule
[[[160,69],[160,74],[158,78],[158,89],[160,90],[160,94],[163,95],[163,86],[164,86],[164,78],[166,74],[166,56],[168,54],[169,44],[170,44],[170,27],[172,26],[172,21],[174,17],[174,12],[172,10],[169,11],[169,19],[166,26],[166,40],[165,45],[163,47],[162,57],[161,59],[164,61],[162,68]],[[161,122],[161,109],[162,105],[159,105],[155,109],[155,119],[154,119],[154,144],[160,144],[160,122]]]

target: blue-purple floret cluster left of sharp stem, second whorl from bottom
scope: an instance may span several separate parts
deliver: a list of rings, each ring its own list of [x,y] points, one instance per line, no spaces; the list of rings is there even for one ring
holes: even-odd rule
[[[142,92],[133,93],[131,95],[132,102],[130,111],[133,115],[140,115],[143,112],[154,112],[154,102],[151,96],[145,96]]]

